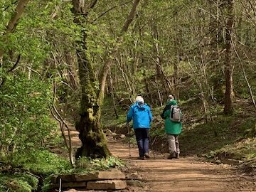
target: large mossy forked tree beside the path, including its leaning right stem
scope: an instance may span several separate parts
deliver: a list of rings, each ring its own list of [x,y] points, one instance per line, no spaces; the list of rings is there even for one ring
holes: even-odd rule
[[[83,26],[87,19],[90,9],[92,9],[97,0],[93,0],[90,3],[86,3],[83,0],[73,0],[73,13],[75,14],[75,23]],[[122,33],[128,30],[130,23],[132,22],[136,13],[139,0],[135,0],[132,6],[132,10],[127,17],[127,20],[122,27],[122,31],[117,41],[121,41]],[[80,122],[77,124],[76,129],[80,132],[79,137],[82,141],[82,146],[78,149],[76,157],[78,156],[90,156],[92,158],[102,158],[110,155],[109,149],[107,149],[107,142],[105,135],[102,131],[100,124],[100,105],[104,97],[105,82],[107,73],[112,65],[112,59],[107,59],[105,65],[102,68],[100,75],[100,90],[95,89],[97,80],[94,76],[94,70],[92,63],[87,58],[87,33],[82,31],[82,41],[77,45],[77,57],[79,65],[79,76],[81,86],[81,110],[80,110]],[[118,47],[114,47],[112,50],[112,58],[117,54]]]

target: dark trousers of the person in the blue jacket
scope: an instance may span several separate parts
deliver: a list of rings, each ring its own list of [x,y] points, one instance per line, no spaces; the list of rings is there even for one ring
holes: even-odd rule
[[[134,129],[134,132],[139,148],[139,156],[144,157],[144,154],[149,152],[149,129],[137,128]]]

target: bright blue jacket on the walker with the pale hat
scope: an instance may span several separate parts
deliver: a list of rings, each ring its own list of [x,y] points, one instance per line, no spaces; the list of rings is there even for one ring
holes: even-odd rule
[[[127,123],[133,120],[134,129],[149,129],[152,119],[153,117],[149,105],[139,105],[139,102],[136,102],[129,108]]]

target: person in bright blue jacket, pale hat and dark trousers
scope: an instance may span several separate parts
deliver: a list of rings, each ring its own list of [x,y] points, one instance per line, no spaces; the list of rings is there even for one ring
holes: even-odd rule
[[[138,159],[149,159],[149,128],[152,121],[149,105],[144,103],[142,96],[136,97],[136,102],[129,108],[127,124],[133,120],[133,128],[139,148]]]

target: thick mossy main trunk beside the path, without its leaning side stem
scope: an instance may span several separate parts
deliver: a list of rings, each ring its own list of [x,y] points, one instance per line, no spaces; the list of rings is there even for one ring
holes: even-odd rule
[[[75,14],[75,23],[82,25],[81,15],[84,19],[87,17],[85,9],[85,1],[73,0],[73,12]],[[95,90],[95,77],[92,64],[87,59],[87,34],[82,31],[83,39],[78,41],[76,54],[78,57],[78,69],[81,86],[81,110],[80,122],[76,124],[76,129],[79,132],[79,138],[82,146],[78,149],[75,157],[90,156],[92,159],[104,158],[110,156],[110,151],[107,149],[107,142],[100,124],[100,105],[97,100],[97,90]]]

